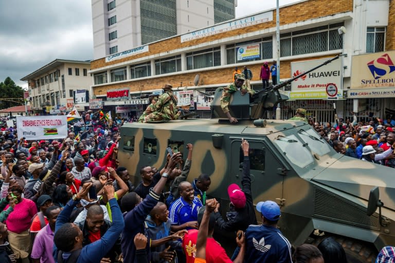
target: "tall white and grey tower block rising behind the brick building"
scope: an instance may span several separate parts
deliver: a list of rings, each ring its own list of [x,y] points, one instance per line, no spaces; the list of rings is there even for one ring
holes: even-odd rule
[[[92,0],[94,58],[235,18],[235,0]]]

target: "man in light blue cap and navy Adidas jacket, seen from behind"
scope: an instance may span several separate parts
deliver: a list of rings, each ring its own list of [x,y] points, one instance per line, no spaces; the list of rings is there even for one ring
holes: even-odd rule
[[[262,225],[250,225],[245,232],[244,262],[292,263],[291,244],[277,228],[280,207],[273,201],[259,202]]]

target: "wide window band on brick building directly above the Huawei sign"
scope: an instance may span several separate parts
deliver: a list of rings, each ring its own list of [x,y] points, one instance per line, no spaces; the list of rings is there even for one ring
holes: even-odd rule
[[[342,49],[343,38],[337,29],[343,25],[341,22],[281,34],[281,57]]]

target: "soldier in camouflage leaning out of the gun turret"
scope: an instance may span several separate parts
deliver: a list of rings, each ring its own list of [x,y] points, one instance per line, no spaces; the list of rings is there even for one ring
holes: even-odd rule
[[[229,101],[230,96],[236,92],[240,91],[242,95],[249,93],[250,95],[255,94],[255,91],[244,85],[245,76],[244,74],[236,74],[236,80],[233,83],[230,83],[228,86],[224,87],[221,96],[221,108],[228,117],[231,124],[236,124],[237,119],[232,117],[229,113]]]

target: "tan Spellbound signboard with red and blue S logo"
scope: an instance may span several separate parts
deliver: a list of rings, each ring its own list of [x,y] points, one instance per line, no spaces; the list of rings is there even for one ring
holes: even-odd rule
[[[350,89],[395,86],[395,51],[352,56]]]

